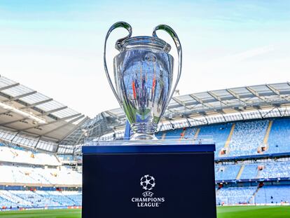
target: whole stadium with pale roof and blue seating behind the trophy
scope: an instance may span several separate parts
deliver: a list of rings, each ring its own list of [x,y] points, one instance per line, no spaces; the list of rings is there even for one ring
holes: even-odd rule
[[[80,217],[81,147],[123,139],[125,114],[89,118],[20,82],[0,77],[0,217]],[[156,136],[215,142],[219,217],[289,217],[290,83],[174,95]]]

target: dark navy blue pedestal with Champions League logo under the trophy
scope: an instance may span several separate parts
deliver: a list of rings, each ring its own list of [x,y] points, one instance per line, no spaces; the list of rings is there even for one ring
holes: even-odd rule
[[[216,217],[214,149],[83,147],[83,218]]]

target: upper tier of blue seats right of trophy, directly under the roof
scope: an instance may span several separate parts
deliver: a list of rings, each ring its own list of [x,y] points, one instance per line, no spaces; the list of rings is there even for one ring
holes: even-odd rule
[[[268,125],[272,121],[270,134],[265,142]],[[231,133],[231,130],[233,132]],[[196,135],[195,133],[198,132]],[[259,154],[277,154],[290,152],[290,119],[246,121],[206,125],[199,128],[184,128],[158,132],[158,137],[184,138],[212,137],[216,143],[216,154],[219,157],[251,156]],[[232,135],[230,135],[232,134]],[[228,141],[229,140],[229,141]],[[227,142],[228,141],[228,142]],[[263,147],[263,149],[261,149]],[[223,152],[224,151],[224,152]]]

